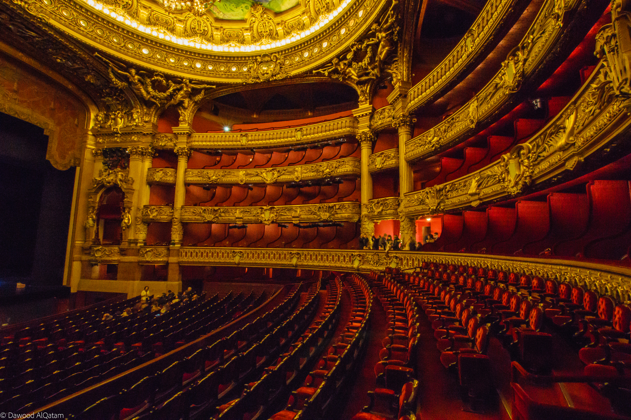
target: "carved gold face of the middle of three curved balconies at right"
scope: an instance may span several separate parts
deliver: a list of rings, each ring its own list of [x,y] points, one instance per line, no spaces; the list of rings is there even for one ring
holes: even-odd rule
[[[503,106],[517,100],[517,93],[528,77],[536,74],[551,54],[558,54],[554,48],[565,40],[560,27],[565,8],[575,9],[581,4],[581,1],[546,0],[492,81],[449,118],[406,142],[406,161],[425,159],[436,150],[457,144],[475,133],[479,121],[489,121]]]

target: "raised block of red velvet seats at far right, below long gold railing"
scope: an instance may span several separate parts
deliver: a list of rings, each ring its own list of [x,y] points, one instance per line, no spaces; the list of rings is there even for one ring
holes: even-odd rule
[[[513,418],[630,418],[628,305],[554,279],[423,265],[416,275],[387,281],[416,296],[440,362],[457,372],[471,407],[498,386],[486,355],[489,340],[497,339],[512,360]]]

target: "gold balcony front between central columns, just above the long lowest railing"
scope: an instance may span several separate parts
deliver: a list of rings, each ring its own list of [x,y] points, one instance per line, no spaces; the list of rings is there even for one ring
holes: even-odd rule
[[[357,222],[360,203],[342,201],[327,204],[301,204],[259,207],[184,206],[182,223],[302,223]]]

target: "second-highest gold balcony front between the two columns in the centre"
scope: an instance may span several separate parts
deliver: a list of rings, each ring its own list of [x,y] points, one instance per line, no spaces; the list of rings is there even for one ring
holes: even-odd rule
[[[331,177],[358,178],[359,176],[360,160],[357,157],[345,157],[309,165],[260,169],[187,169],[184,182],[218,185],[280,184]]]

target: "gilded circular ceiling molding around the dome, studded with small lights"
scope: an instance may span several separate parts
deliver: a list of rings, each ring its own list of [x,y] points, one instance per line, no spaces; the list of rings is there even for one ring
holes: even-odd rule
[[[334,4],[334,0],[330,1]],[[93,3],[100,4],[96,0]],[[332,21],[317,21],[319,15],[314,20],[300,15],[285,21],[287,15],[282,15],[283,25],[277,23],[274,28],[262,23],[269,22],[269,14],[264,11],[258,16],[252,13],[245,27],[230,28],[233,23],[227,20],[213,23],[210,16],[169,15],[144,6],[144,0],[108,3],[114,4],[102,5],[98,10],[83,0],[13,0],[13,7],[132,67],[198,81],[230,83],[252,78],[265,81],[270,69],[257,65],[264,54],[276,55],[274,63],[288,75],[310,71],[355,42],[389,5],[387,0],[355,0],[347,2]],[[327,1],[319,4],[329,9]],[[103,13],[106,8],[107,14]],[[141,23],[134,27],[132,20]],[[298,40],[302,30],[309,34]],[[284,40],[280,32],[283,37],[287,35]],[[259,41],[257,37],[261,37]],[[213,51],[214,46],[221,51]]]

